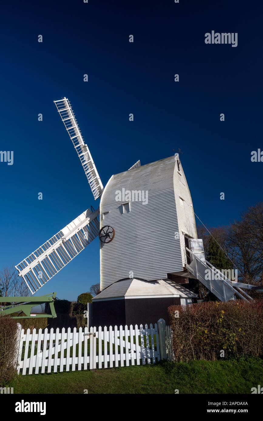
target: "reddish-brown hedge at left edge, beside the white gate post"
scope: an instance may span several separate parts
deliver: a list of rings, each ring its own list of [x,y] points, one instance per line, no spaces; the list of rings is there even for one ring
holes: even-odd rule
[[[0,316],[0,387],[16,374],[18,329],[16,321]]]

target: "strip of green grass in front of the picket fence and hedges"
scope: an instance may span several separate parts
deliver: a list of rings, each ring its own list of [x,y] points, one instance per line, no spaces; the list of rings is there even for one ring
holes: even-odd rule
[[[248,393],[263,384],[262,360],[164,362],[16,376],[14,393]]]

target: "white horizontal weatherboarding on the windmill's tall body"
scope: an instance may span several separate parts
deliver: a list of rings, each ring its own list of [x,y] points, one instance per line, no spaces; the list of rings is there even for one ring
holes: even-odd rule
[[[186,186],[176,180],[177,171],[173,156],[113,175],[108,181],[101,197],[100,214],[109,213],[104,220],[101,218],[100,226],[112,226],[115,238],[109,244],[100,244],[101,289],[128,277],[131,271],[133,276],[145,280],[165,279],[169,272],[182,271],[183,237],[180,233],[180,241],[174,238],[175,232],[182,231],[178,227],[177,210],[179,196],[185,196],[187,205],[191,203],[191,196],[183,172]],[[131,202],[130,212],[123,214],[125,200],[115,200],[115,192],[123,188],[148,190],[148,204]],[[185,209],[186,213],[189,212],[188,208]],[[181,221],[183,212],[180,209],[179,212]],[[192,208],[187,214],[190,228],[195,226],[191,218]],[[188,231],[191,231],[189,235],[196,236],[192,235],[192,228],[188,230],[186,227],[185,232]]]

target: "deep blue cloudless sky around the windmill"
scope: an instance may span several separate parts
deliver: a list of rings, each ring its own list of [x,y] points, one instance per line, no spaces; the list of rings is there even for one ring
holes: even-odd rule
[[[104,185],[138,159],[150,163],[179,147],[205,224],[228,224],[262,200],[263,163],[250,160],[263,149],[260,2],[24,3],[1,5],[0,150],[13,150],[14,163],[0,163],[0,266],[19,263],[99,206],[53,104],[62,96]],[[238,46],[206,45],[212,30],[238,32]],[[98,239],[38,295],[55,290],[74,300],[97,282]]]

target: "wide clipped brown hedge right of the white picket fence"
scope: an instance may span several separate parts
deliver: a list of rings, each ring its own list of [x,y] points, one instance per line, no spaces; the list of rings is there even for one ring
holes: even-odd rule
[[[168,313],[176,361],[217,360],[222,350],[226,358],[263,356],[263,300],[170,306]]]

